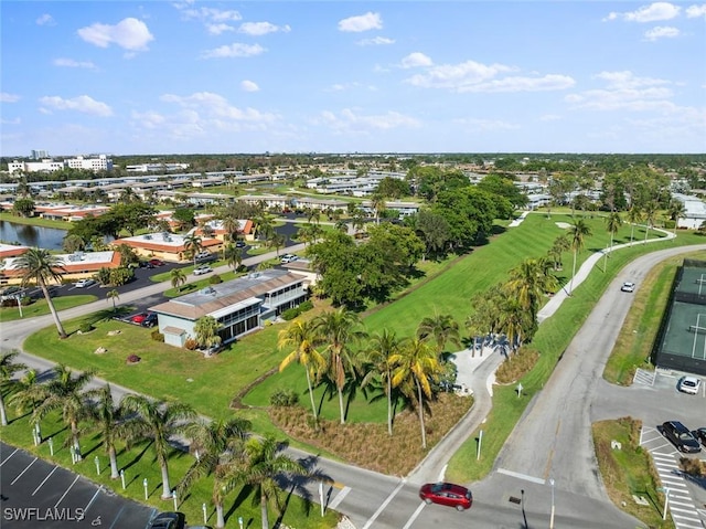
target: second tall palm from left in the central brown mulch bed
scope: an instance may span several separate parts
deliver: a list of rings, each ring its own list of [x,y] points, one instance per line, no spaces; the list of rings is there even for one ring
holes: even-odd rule
[[[351,346],[365,337],[365,332],[357,329],[359,325],[359,317],[344,307],[323,313],[314,319],[314,328],[319,338],[328,343],[322,352],[328,356],[329,377],[335,383],[339,392],[341,424],[345,424],[343,388],[349,373],[353,372],[355,363]]]

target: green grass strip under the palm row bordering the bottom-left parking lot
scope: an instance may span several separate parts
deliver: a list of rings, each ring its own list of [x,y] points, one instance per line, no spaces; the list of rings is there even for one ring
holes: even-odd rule
[[[68,431],[62,423],[61,416],[55,413],[42,421],[42,435],[44,438],[52,437],[54,456],[50,453],[49,442],[34,446],[31,441],[31,430],[29,416],[15,417],[13,410],[10,410],[11,423],[2,427],[2,441],[14,446],[22,446],[28,452],[55,463],[62,467],[69,468],[78,474],[86,476],[93,482],[104,485],[108,490],[113,489],[122,496],[129,497],[141,504],[153,506],[158,510],[173,510],[173,501],[160,499],[162,491],[161,472],[159,465],[154,462],[152,447],[149,443],[141,443],[127,448],[124,443],[119,443],[118,448],[118,467],[125,469],[126,489],[122,489],[120,479],[110,479],[110,467],[108,456],[103,448],[99,440],[87,429],[83,429],[84,434],[81,437],[83,461],[73,465],[68,448],[64,446]],[[87,426],[87,425],[84,425]],[[95,457],[98,457],[100,465],[100,475],[96,474]],[[193,463],[193,456],[174,449],[169,458],[170,485],[175,487],[179,480],[184,476],[189,466]],[[148,480],[148,500],[145,500],[143,479]],[[216,515],[215,507],[211,498],[213,491],[213,480],[211,477],[204,477],[197,480],[193,487],[179,498],[179,510],[186,515],[188,522],[193,526],[203,522],[202,505],[206,504],[206,514],[208,523],[215,526]],[[282,493],[285,497],[287,491]],[[237,528],[237,518],[243,517],[246,527],[260,526],[259,501],[253,501],[253,494],[245,489],[236,488],[226,496],[224,510],[226,512],[226,527]],[[259,498],[258,498],[259,499]],[[295,495],[288,497],[286,502],[286,511],[282,523],[298,529],[328,529],[335,527],[338,514],[327,511],[322,518],[318,506],[312,506],[308,510],[304,501]],[[269,510],[270,522],[277,518],[275,511]]]

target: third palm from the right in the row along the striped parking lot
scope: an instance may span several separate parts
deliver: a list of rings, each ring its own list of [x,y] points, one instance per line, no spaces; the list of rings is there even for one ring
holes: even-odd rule
[[[162,470],[162,499],[172,497],[169,485],[169,440],[182,434],[195,416],[191,406],[181,403],[167,404],[152,401],[143,395],[129,394],[122,399],[122,406],[136,414],[126,423],[126,437],[130,441],[150,438],[157,463]]]

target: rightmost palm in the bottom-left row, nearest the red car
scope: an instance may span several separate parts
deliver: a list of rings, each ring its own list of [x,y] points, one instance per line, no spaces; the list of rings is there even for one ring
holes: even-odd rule
[[[238,483],[244,483],[255,490],[253,502],[259,501],[263,529],[269,529],[268,504],[274,504],[278,514],[282,510],[278,485],[281,475],[308,476],[310,474],[299,462],[282,454],[287,446],[287,442],[277,442],[271,436],[250,437],[245,443],[244,466],[226,482],[226,490]]]

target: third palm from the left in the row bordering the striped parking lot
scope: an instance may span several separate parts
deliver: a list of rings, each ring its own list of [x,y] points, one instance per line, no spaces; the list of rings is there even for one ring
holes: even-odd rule
[[[78,423],[89,416],[90,398],[95,392],[86,390],[93,379],[93,371],[84,371],[76,377],[63,364],[55,366],[53,378],[35,387],[36,401],[40,404],[32,414],[32,422],[38,424],[47,413],[61,410],[62,419],[71,429],[71,445],[78,461],[82,459],[78,436]]]

